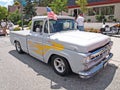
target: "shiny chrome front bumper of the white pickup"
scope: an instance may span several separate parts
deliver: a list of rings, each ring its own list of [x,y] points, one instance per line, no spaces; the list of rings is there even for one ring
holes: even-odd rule
[[[79,76],[81,78],[86,78],[86,79],[92,77],[93,75],[95,75],[97,72],[99,72],[102,68],[104,68],[107,65],[108,61],[110,60],[112,56],[113,54],[110,53],[108,57],[106,57],[103,61],[101,61],[101,63],[98,64],[97,66],[94,66],[88,71],[79,72]]]

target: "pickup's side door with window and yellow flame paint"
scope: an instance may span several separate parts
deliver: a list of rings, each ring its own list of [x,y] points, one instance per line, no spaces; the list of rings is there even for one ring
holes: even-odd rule
[[[33,27],[28,36],[28,50],[29,54],[39,60],[43,60],[43,20],[33,22]]]

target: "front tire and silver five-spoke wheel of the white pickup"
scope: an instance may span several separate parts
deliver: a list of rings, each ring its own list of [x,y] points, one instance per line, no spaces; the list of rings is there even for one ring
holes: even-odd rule
[[[52,67],[55,73],[60,76],[67,76],[71,72],[69,63],[64,57],[54,55],[52,58]]]

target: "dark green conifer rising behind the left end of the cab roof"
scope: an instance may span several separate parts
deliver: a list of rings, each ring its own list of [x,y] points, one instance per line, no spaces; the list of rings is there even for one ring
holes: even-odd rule
[[[35,4],[31,2],[31,0],[26,0],[26,6],[23,9],[24,18],[31,19],[36,15]]]

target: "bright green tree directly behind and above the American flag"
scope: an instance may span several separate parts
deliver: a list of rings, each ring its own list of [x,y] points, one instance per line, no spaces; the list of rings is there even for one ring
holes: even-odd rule
[[[67,11],[67,3],[68,0],[54,0],[49,6],[56,14],[62,14],[62,11]]]

